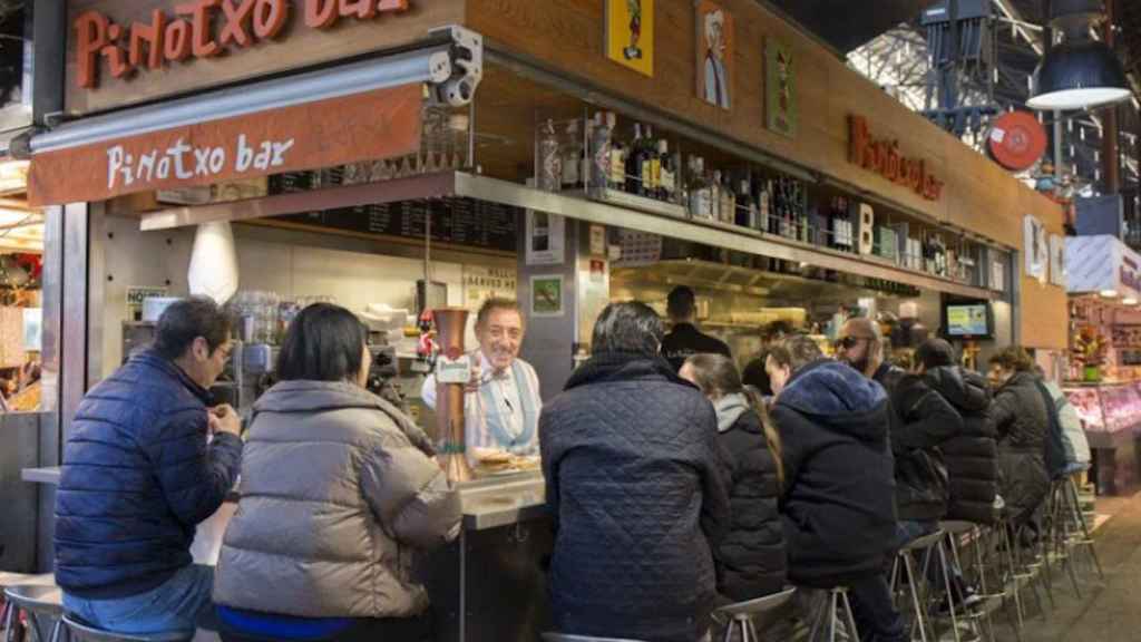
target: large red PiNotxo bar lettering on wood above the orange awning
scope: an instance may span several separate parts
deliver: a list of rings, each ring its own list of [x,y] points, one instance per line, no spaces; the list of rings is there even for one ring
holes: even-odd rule
[[[153,9],[147,22],[129,26],[92,9],[74,21],[74,82],[95,89],[104,67],[129,80],[143,70],[235,54],[283,35],[296,15],[306,29],[329,30],[342,18],[370,21],[407,9],[408,0],[193,0],[175,5],[173,13]]]

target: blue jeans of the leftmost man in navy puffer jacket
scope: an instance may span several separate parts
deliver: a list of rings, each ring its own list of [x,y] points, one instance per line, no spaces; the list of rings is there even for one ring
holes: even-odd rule
[[[138,595],[84,600],[64,593],[64,611],[113,633],[154,634],[215,628],[213,568],[192,564]]]

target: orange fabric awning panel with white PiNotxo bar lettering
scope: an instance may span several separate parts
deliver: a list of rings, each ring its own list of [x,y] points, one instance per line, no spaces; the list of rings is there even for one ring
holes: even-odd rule
[[[35,154],[33,206],[398,158],[420,149],[420,83]]]

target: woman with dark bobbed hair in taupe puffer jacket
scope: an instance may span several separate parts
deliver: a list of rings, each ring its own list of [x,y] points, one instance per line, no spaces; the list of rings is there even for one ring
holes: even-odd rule
[[[431,639],[408,549],[455,537],[459,498],[423,431],[364,388],[366,337],[329,304],[290,326],[218,561],[224,641]]]

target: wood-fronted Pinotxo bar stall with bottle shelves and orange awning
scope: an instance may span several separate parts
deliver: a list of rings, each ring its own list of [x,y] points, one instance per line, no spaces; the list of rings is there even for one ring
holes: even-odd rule
[[[63,289],[46,326],[87,337],[46,355],[63,439],[82,392],[148,340],[163,300],[199,291],[234,315],[240,345],[217,392],[240,409],[272,383],[291,315],[335,300],[383,355],[370,385],[440,441],[454,435],[418,399],[442,362],[421,314],[492,295],[523,304],[523,356],[544,399],[589,356],[602,306],[661,306],[678,284],[742,362],[768,321],[827,344],[857,312],[899,328],[899,347],[921,327],[972,355],[1065,347],[1062,289],[1015,260],[1023,217],[1058,232],[1057,207],[754,2],[723,2],[756,38],[738,40],[736,95],[712,105],[695,91],[693,47],[657,49],[655,72],[665,35],[652,21],[641,56],[605,55],[597,2],[411,2],[313,24],[294,11],[256,24],[256,46],[145,69],[128,56],[133,73],[94,53],[119,47],[99,25],[144,30],[169,7],[70,5],[89,10],[73,18],[94,21],[76,33],[95,39],[71,43],[74,120],[31,141],[49,251],[90,283]],[[657,10],[659,24],[699,19],[688,3]],[[681,31],[670,38],[696,47],[697,30]],[[790,57],[795,78],[778,64]],[[978,187],[990,182],[1002,188]],[[461,485],[464,532],[427,562],[442,639],[531,640],[547,623],[542,479],[508,473]],[[225,515],[204,528],[209,561]],[[478,591],[487,583],[503,589]]]

